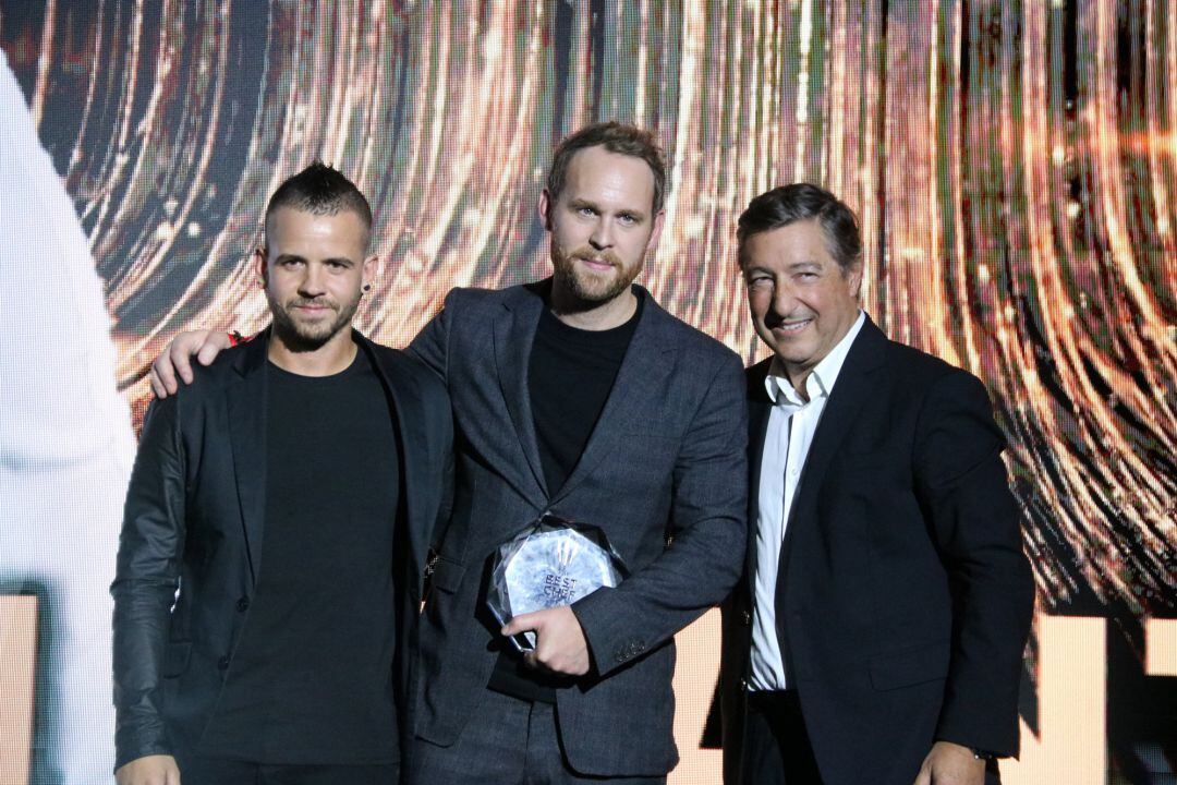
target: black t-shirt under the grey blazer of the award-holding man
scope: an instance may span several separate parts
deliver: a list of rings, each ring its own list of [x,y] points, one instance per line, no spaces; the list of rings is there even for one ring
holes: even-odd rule
[[[527,364],[527,392],[550,497],[576,468],[613,390],[645,305],[644,297],[634,294],[638,307],[633,317],[612,330],[578,330],[547,308],[539,318]],[[552,690],[567,685],[568,679],[528,668],[518,652],[506,646],[488,686],[518,698],[553,703]]]

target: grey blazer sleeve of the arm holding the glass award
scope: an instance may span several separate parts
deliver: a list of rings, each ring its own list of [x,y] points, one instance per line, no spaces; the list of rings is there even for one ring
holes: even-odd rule
[[[744,371],[725,353],[676,460],[672,544],[617,588],[572,606],[599,674],[669,639],[739,579],[747,537],[746,407]]]

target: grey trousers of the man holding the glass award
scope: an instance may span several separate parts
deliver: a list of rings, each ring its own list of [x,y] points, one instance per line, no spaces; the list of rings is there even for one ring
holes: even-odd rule
[[[641,744],[641,739],[617,739]],[[556,706],[486,690],[448,747],[417,740],[412,785],[665,785],[665,777],[590,777],[568,767]],[[185,783],[184,785],[188,785]]]

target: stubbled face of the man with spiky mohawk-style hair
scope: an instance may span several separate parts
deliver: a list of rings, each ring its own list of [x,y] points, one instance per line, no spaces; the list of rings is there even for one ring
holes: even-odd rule
[[[368,231],[360,217],[350,209],[319,215],[280,207],[270,217],[266,235],[257,272],[275,337],[299,351],[348,339],[377,264],[375,257],[365,258]]]

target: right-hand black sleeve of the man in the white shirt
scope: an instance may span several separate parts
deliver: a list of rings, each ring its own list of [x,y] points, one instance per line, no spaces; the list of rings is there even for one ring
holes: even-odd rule
[[[1003,447],[980,381],[964,372],[942,377],[920,412],[913,461],[916,492],[955,606],[936,738],[1016,756],[1035,585]]]

